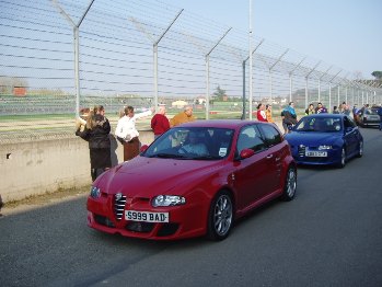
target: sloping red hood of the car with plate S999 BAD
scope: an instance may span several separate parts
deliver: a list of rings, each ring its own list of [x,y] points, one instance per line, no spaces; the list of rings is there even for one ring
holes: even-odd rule
[[[107,194],[151,197],[183,195],[222,167],[222,160],[174,160],[137,157],[105,172],[94,185]]]

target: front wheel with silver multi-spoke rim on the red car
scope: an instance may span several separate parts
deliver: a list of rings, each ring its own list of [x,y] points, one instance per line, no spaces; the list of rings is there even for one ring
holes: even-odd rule
[[[219,192],[211,202],[208,214],[207,236],[210,240],[220,241],[228,237],[233,223],[233,205],[227,191]]]

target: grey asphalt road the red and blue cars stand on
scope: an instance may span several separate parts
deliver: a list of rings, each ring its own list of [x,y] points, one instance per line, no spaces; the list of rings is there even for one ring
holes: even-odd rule
[[[86,227],[85,197],[0,218],[0,286],[382,286],[382,133],[345,169],[301,168],[290,203],[222,242],[154,242]]]

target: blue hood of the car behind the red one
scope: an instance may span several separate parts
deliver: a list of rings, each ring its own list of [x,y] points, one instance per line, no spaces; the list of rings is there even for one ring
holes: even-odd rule
[[[292,131],[286,135],[286,140],[292,145],[319,146],[334,142],[340,138],[339,133],[312,133],[312,131]]]

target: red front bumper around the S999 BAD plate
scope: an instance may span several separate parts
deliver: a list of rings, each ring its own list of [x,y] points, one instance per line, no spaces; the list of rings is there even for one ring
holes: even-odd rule
[[[114,195],[88,198],[88,226],[106,233],[152,240],[199,237],[207,230],[207,213],[201,203],[153,208],[147,198],[127,198],[116,208]],[[169,222],[144,222],[125,219],[126,210],[169,213]]]

